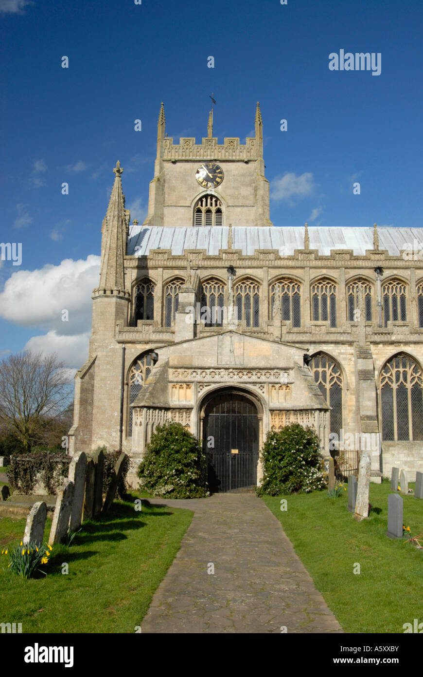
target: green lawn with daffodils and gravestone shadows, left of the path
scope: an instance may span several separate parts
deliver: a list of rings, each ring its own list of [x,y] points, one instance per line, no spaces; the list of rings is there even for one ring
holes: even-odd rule
[[[22,623],[22,632],[134,632],[192,517],[145,500],[139,512],[133,501],[115,502],[107,519],[84,522],[69,548],[55,546],[49,573],[39,579],[10,573],[0,554],[1,619]],[[50,526],[48,520],[45,540]],[[24,527],[25,519],[0,518],[1,549],[20,542]]]

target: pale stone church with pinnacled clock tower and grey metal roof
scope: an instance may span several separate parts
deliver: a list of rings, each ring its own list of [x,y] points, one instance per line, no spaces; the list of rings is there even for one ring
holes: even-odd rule
[[[245,144],[157,125],[147,219],[130,223],[120,162],[101,227],[89,359],[70,454],[136,466],[158,424],[203,440],[209,483],[259,482],[266,433],[312,426],[345,475],[423,471],[423,229],[274,227],[262,114]],[[413,249],[414,251],[414,249]],[[421,255],[421,251],[420,251]]]

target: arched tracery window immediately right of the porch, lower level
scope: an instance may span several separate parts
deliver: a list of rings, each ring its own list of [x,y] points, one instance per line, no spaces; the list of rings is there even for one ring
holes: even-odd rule
[[[326,402],[332,409],[329,412],[329,432],[338,438],[342,428],[342,391],[343,377],[339,366],[324,353],[317,353],[309,364],[314,380]],[[336,439],[336,438],[335,438]]]

